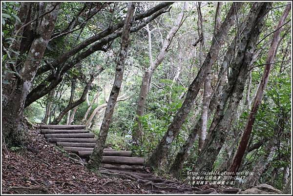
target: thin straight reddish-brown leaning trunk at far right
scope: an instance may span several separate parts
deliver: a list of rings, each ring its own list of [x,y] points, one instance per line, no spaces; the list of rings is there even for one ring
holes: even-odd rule
[[[253,123],[255,120],[255,115],[256,115],[257,109],[258,109],[259,105],[261,104],[261,99],[262,99],[264,90],[268,84],[269,75],[270,75],[270,71],[271,71],[271,67],[272,67],[271,63],[274,59],[279,35],[282,31],[282,28],[280,28],[280,27],[284,24],[287,16],[289,15],[290,10],[291,10],[291,4],[287,5],[287,7],[285,8],[284,13],[283,13],[281,19],[279,20],[278,25],[276,26],[276,29],[278,29],[278,28],[279,29],[276,32],[274,32],[274,34],[273,34],[272,44],[271,44],[271,47],[268,52],[268,57],[266,59],[266,67],[264,69],[264,73],[263,73],[262,79],[260,81],[260,86],[257,89],[256,97],[255,97],[253,105],[252,105],[251,113],[249,115],[249,118],[248,118],[248,121],[247,121],[247,124],[245,127],[245,131],[243,133],[238,150],[236,152],[236,155],[234,156],[232,165],[230,167],[230,172],[236,173],[239,169],[240,164],[241,164],[243,155],[245,153],[245,150],[246,150],[246,147],[248,144],[248,140],[251,135],[252,126],[253,126]]]

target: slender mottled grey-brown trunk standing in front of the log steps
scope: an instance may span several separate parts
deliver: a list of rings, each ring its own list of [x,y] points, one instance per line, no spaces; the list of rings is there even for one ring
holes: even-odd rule
[[[106,137],[108,135],[109,126],[112,120],[112,115],[114,112],[116,100],[118,98],[122,79],[123,79],[124,66],[125,66],[125,61],[126,61],[126,57],[128,53],[130,28],[132,26],[132,22],[134,19],[134,16],[133,16],[134,9],[135,9],[135,3],[128,2],[128,9],[127,9],[125,23],[123,26],[121,48],[120,48],[119,56],[117,58],[116,74],[115,74],[113,87],[112,87],[109,100],[107,103],[107,107],[105,110],[105,116],[103,119],[102,127],[100,129],[99,137],[97,138],[97,142],[93,150],[93,153],[91,154],[89,161],[86,165],[87,168],[91,170],[98,170],[102,162]]]

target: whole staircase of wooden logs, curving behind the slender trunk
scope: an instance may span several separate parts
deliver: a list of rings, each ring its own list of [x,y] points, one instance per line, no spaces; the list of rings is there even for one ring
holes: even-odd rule
[[[95,147],[95,135],[85,130],[85,125],[40,125],[40,129],[49,142],[62,146],[64,150],[75,153],[86,161]],[[131,151],[105,148],[101,167],[141,173],[144,171],[144,162],[142,157],[132,157]]]

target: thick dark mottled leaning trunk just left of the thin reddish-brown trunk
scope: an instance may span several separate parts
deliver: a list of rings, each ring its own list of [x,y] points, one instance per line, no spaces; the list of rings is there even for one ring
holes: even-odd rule
[[[193,167],[194,172],[210,172],[226,138],[226,132],[230,128],[231,119],[236,115],[237,107],[242,99],[245,80],[251,64],[252,54],[260,34],[260,29],[264,24],[264,13],[267,13],[271,3],[254,3],[243,37],[229,83],[224,88],[224,93],[220,98],[219,105],[214,118],[209,127],[209,134],[204,143],[204,147]],[[228,98],[230,98],[227,110],[225,111]]]

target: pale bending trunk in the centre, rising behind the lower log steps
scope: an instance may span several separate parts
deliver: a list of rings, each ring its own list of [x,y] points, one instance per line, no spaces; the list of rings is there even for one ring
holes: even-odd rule
[[[141,139],[142,139],[142,125],[141,125],[141,121],[139,118],[144,115],[145,106],[146,106],[146,98],[147,98],[147,94],[150,90],[152,74],[157,69],[157,67],[161,64],[161,62],[164,60],[164,58],[167,54],[167,49],[168,49],[173,37],[175,36],[178,29],[180,28],[180,26],[183,23],[183,20],[184,20],[183,17],[184,17],[185,10],[186,10],[186,3],[184,3],[184,7],[182,9],[182,12],[178,15],[176,25],[173,26],[173,28],[168,32],[167,38],[164,40],[163,46],[160,50],[158,57],[147,68],[147,70],[145,71],[145,74],[143,76],[140,95],[139,95],[139,98],[137,101],[137,110],[136,110],[136,115],[137,115],[136,121],[138,123],[138,126],[136,129],[133,129],[133,131],[132,131],[132,140],[135,145],[139,145],[141,143]]]

